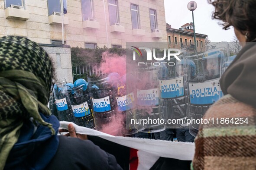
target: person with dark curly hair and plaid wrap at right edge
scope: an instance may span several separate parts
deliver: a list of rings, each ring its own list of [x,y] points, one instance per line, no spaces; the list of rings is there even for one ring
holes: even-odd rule
[[[256,169],[256,0],[208,0],[213,19],[231,26],[242,50],[220,79],[223,98],[204,119],[224,118],[230,123],[204,124],[195,139],[194,170]],[[239,120],[239,124],[233,122]]]

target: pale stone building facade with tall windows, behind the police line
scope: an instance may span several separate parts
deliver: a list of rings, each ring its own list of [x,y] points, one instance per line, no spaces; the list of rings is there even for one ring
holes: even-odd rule
[[[62,56],[63,48],[126,48],[126,42],[167,41],[164,0],[63,0],[63,7],[60,0],[0,0],[0,37],[27,37],[48,44],[47,50],[54,45],[50,51],[56,53],[50,54],[65,75],[72,73],[71,64],[61,60],[71,63],[71,57],[66,52]],[[57,72],[58,79],[61,75]]]

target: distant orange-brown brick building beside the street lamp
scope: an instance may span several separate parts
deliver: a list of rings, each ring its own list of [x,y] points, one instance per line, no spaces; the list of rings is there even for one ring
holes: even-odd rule
[[[182,25],[179,29],[172,28],[171,25],[166,23],[166,30],[169,48],[194,49],[194,45],[196,45],[198,52],[205,51],[205,38],[208,35],[195,33],[196,43],[194,43],[193,23]]]

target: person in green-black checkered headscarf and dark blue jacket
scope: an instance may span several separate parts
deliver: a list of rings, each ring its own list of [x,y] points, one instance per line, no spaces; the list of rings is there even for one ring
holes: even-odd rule
[[[57,136],[52,62],[27,38],[0,38],[0,170],[122,169],[89,140]],[[100,162],[100,164],[99,164]]]

